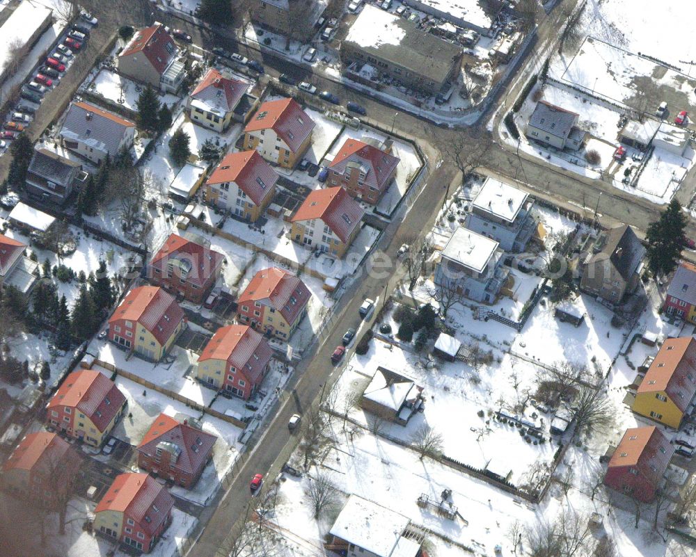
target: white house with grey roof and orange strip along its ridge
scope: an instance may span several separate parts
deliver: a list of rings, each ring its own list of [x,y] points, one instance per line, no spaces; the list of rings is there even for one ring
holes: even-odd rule
[[[100,164],[107,154],[113,160],[133,145],[135,124],[93,104],[73,102],[58,135],[63,146]]]

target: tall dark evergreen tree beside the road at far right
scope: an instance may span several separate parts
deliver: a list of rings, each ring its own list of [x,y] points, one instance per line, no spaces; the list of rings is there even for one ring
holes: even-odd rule
[[[667,205],[660,220],[648,226],[645,234],[648,267],[654,275],[668,275],[677,267],[684,247],[685,228],[686,216],[676,199]]]

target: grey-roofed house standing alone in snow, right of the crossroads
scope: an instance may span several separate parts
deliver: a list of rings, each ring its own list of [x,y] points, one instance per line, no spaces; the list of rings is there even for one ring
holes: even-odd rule
[[[539,101],[530,116],[525,135],[556,149],[578,150],[587,138],[587,132],[578,128],[579,117],[578,113]]]

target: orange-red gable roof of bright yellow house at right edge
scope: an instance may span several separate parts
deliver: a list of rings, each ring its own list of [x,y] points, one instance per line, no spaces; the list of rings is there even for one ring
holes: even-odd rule
[[[681,412],[696,395],[696,340],[667,339],[648,368],[638,394],[664,391]]]

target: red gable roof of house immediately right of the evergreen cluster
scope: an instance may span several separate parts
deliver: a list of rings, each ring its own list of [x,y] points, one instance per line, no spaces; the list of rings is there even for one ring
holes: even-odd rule
[[[120,319],[140,323],[164,345],[176,330],[184,312],[171,294],[159,286],[132,289],[109,318],[109,324]]]

